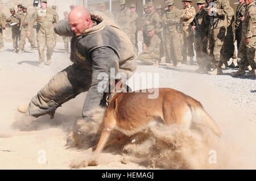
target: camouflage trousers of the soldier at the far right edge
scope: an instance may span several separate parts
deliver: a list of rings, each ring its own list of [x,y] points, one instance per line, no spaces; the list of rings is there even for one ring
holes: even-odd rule
[[[256,36],[249,39],[249,44],[245,43],[245,37],[242,36],[240,47],[238,49],[237,63],[241,68],[250,65],[253,70],[256,69]]]

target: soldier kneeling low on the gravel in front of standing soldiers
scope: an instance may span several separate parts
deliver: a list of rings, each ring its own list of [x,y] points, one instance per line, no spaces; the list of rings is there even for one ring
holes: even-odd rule
[[[150,45],[139,54],[138,60],[144,65],[159,65],[161,40],[155,34],[155,26],[147,26],[147,36],[150,37]]]

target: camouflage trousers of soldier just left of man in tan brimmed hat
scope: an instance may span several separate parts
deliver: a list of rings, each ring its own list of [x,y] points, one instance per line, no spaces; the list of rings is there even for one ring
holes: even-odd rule
[[[166,33],[165,36],[166,45],[166,63],[172,62],[174,65],[177,62],[181,62],[181,50],[180,50],[180,39],[178,32]],[[168,58],[168,60],[167,60]]]

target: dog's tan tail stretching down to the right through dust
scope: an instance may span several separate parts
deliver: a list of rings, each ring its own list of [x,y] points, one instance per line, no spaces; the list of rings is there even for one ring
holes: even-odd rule
[[[187,103],[193,108],[193,110],[195,110],[196,115],[199,117],[201,123],[207,125],[217,136],[221,137],[220,128],[212,119],[212,117],[210,117],[210,115],[204,110],[202,104],[190,96],[187,96]]]

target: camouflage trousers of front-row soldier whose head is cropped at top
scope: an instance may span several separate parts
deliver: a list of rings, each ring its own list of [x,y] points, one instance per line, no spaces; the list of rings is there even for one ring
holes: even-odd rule
[[[216,28],[212,30],[212,35],[208,33],[207,52],[210,60],[216,67],[221,67],[223,64],[223,44],[226,30],[224,28]]]

